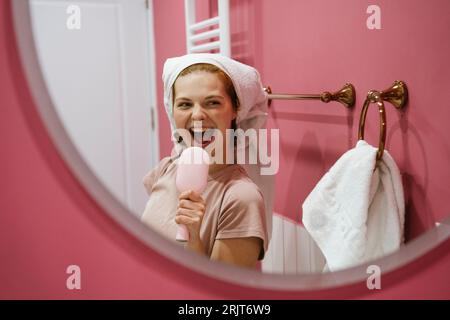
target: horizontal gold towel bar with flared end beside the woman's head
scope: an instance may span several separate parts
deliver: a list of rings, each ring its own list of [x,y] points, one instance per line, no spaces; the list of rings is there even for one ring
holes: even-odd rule
[[[346,83],[344,87],[334,93],[328,91],[322,94],[284,94],[284,93],[272,93],[270,86],[264,88],[269,94],[269,106],[273,99],[276,100],[321,100],[328,103],[330,101],[337,101],[342,103],[345,107],[351,108],[355,105],[355,87],[351,83]]]

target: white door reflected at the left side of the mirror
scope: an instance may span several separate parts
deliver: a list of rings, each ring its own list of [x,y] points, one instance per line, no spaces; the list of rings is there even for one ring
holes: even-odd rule
[[[61,121],[97,177],[141,214],[142,177],[159,160],[151,1],[30,4],[41,68]]]

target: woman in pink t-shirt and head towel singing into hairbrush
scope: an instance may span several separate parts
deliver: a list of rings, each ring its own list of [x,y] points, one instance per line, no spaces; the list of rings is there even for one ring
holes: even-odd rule
[[[170,239],[175,239],[177,224],[185,225],[187,249],[212,260],[254,267],[268,246],[264,200],[244,168],[225,160],[236,151],[227,129],[245,129],[249,124],[257,129],[265,123],[266,114],[258,112],[267,103],[259,75],[224,56],[194,54],[168,59],[163,79],[165,107],[178,152],[162,159],[144,178],[150,197],[142,221]],[[183,139],[182,129],[191,137]],[[220,141],[206,137],[213,130],[226,143],[211,148],[210,144]],[[180,150],[193,143],[210,153],[221,150],[220,161],[210,164],[202,194],[192,190],[178,194],[176,160]],[[214,151],[210,155],[217,159]]]

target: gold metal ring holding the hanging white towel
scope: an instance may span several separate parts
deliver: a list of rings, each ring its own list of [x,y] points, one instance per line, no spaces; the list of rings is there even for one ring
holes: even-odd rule
[[[366,125],[367,110],[371,103],[378,105],[380,114],[380,141],[378,142],[377,162],[383,157],[384,146],[386,145],[386,110],[384,108],[381,94],[378,91],[369,91],[359,118],[358,140],[364,140],[364,127]]]

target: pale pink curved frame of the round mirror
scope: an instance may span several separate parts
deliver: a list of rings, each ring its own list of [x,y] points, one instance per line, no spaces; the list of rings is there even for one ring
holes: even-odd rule
[[[207,257],[188,252],[144,225],[106,189],[87,166],[62,126],[48,93],[33,39],[29,1],[14,0],[11,3],[17,51],[34,100],[34,107],[37,108],[51,140],[66,165],[83,188],[116,223],[148,248],[173,262],[213,279],[239,286],[280,291],[325,290],[365,282],[368,277],[367,267],[370,265],[379,266],[383,276],[399,268],[405,268],[450,238],[450,216],[448,216],[439,226],[403,245],[400,250],[390,255],[342,271],[299,275],[246,270],[210,261]]]

